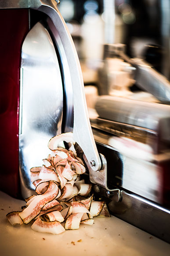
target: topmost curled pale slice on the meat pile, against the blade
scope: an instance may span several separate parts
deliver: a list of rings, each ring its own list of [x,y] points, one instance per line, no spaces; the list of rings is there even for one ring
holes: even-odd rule
[[[67,143],[71,142],[71,143],[75,143],[75,141],[73,140],[73,133],[72,132],[66,132],[66,133],[62,133],[60,135],[54,136],[53,138],[50,139],[49,143],[48,143],[48,147],[51,150],[56,150],[58,148],[58,144],[61,141],[65,141]]]

